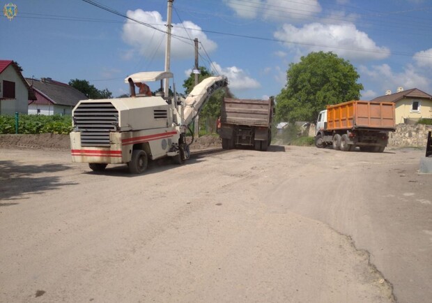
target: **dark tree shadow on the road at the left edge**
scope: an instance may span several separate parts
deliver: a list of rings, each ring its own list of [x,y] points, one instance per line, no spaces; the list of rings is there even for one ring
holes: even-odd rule
[[[46,176],[49,172],[70,169],[61,164],[22,165],[15,161],[0,161],[0,207],[17,205],[28,199],[26,194],[43,193],[72,183],[60,182],[61,177]],[[45,174],[38,177],[38,174]],[[4,202],[4,201],[14,202]]]

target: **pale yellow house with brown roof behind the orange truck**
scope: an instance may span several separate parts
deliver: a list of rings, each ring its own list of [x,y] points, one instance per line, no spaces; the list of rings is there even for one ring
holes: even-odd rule
[[[432,119],[432,96],[419,89],[403,90],[399,87],[396,93],[387,91],[385,96],[371,102],[393,102],[396,124],[415,124],[422,118]]]

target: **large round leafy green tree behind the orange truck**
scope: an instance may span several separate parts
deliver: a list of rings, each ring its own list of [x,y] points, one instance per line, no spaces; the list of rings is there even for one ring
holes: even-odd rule
[[[325,105],[358,100],[363,85],[349,61],[332,52],[311,52],[286,72],[286,86],[277,96],[278,121],[313,122]]]

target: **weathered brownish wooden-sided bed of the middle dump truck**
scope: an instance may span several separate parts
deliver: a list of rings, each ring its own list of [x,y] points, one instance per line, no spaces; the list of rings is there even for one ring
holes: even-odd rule
[[[268,126],[272,101],[224,98],[221,123],[247,126]]]

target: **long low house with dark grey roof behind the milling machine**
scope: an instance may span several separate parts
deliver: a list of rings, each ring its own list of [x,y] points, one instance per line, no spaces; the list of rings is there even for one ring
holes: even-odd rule
[[[49,77],[26,81],[36,95],[36,100],[29,100],[29,114],[70,115],[80,100],[88,99],[81,91]]]

